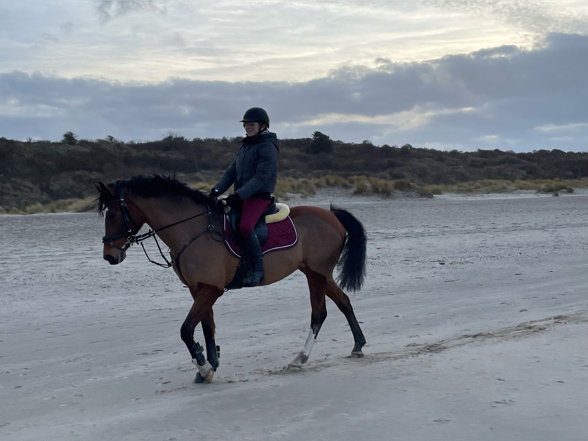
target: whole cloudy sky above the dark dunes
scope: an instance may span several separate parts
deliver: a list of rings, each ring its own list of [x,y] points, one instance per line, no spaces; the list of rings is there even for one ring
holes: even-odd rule
[[[588,1],[0,1],[0,136],[588,151]]]

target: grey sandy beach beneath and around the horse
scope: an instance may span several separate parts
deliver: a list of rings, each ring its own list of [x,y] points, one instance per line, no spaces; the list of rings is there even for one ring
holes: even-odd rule
[[[136,246],[108,265],[96,213],[0,216],[0,439],[588,439],[588,195],[289,201],[330,202],[368,232],[365,358],[328,300],[285,369],[310,324],[295,273],[218,300],[201,385],[171,269]]]

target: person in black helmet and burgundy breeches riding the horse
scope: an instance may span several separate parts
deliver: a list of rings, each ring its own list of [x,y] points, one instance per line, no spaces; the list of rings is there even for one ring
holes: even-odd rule
[[[243,286],[255,286],[263,284],[265,278],[261,245],[253,227],[268,208],[271,192],[276,189],[280,142],[276,134],[269,131],[268,112],[262,108],[250,108],[240,122],[247,136],[240,141],[235,158],[210,195],[221,195],[233,184],[235,193],[224,201],[230,208],[241,211],[239,232],[251,266],[251,274],[243,279]]]

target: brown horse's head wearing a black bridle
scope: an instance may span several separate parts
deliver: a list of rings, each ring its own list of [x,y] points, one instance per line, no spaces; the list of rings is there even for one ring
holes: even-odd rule
[[[131,246],[135,234],[139,231],[145,216],[139,208],[125,199],[125,191],[121,182],[104,185],[94,184],[98,191],[98,211],[104,216],[105,235],[102,238],[104,248],[102,255],[111,265],[125,260],[126,250]]]

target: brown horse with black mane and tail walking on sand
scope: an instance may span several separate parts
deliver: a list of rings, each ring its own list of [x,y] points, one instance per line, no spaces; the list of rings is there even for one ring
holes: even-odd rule
[[[155,233],[169,247],[169,265],[188,286],[194,300],[183,322],[181,338],[199,370],[195,382],[210,382],[219,366],[212,306],[239,264],[223,243],[226,235],[222,230],[222,204],[176,179],[158,175],[135,176],[109,185],[99,182],[95,187],[98,211],[105,218],[103,258],[111,265],[125,259],[125,250],[132,243]],[[300,368],[308,360],[327,316],[325,296],[335,302],[349,322],[355,340],[351,356],[362,357],[366,340],[349,297],[339,288],[355,291],[363,284],[366,236],[362,224],[349,212],[333,206],[330,210],[298,206],[292,208],[290,218],[298,231],[296,245],[263,256],[264,285],[278,282],[296,269],[308,280],[310,332],[303,350],[289,366]],[[144,224],[152,230],[136,236]],[[333,280],[335,266],[339,267],[339,285]],[[194,342],[198,323],[202,323],[206,359],[202,346]]]

